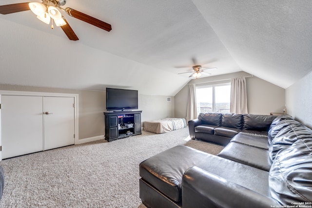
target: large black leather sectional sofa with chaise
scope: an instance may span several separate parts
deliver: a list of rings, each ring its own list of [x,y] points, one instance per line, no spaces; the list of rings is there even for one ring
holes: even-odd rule
[[[193,138],[227,145],[217,156],[176,146],[141,162],[147,207],[312,207],[311,129],[288,115],[227,113],[201,114],[189,127]]]

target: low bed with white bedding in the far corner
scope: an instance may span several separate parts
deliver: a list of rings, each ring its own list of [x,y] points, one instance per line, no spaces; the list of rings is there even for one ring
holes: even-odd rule
[[[171,132],[186,127],[184,118],[162,118],[154,121],[144,121],[144,131],[153,133]]]

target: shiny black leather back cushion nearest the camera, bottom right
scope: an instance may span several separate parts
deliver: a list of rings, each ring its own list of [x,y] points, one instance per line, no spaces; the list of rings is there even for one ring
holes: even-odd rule
[[[279,151],[269,174],[271,195],[283,205],[312,201],[312,138]]]

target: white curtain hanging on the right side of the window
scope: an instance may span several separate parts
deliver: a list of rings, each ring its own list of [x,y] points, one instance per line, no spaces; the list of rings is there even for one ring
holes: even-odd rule
[[[248,113],[245,77],[233,78],[231,80],[230,112],[240,114]]]

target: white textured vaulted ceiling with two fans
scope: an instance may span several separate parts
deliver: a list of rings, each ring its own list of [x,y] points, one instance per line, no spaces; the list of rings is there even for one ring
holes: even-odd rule
[[[112,31],[62,13],[79,38],[71,41],[31,11],[0,15],[0,83],[176,95],[191,79],[178,73],[195,63],[217,67],[211,76],[245,71],[283,88],[312,71],[311,0],[67,0],[64,7]]]

